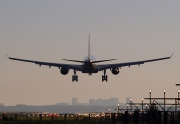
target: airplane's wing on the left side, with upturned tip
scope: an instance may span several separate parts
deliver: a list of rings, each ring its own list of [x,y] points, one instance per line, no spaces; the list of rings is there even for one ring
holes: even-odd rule
[[[41,62],[41,61],[33,61],[33,60],[26,60],[26,59],[12,58],[12,57],[8,57],[8,58],[11,59],[11,60],[35,63],[35,64],[37,64],[39,66],[46,65],[46,66],[49,66],[49,67],[53,66],[53,67],[58,67],[58,68],[64,67],[64,68],[68,68],[68,69],[73,69],[73,70],[81,71],[81,65]]]

